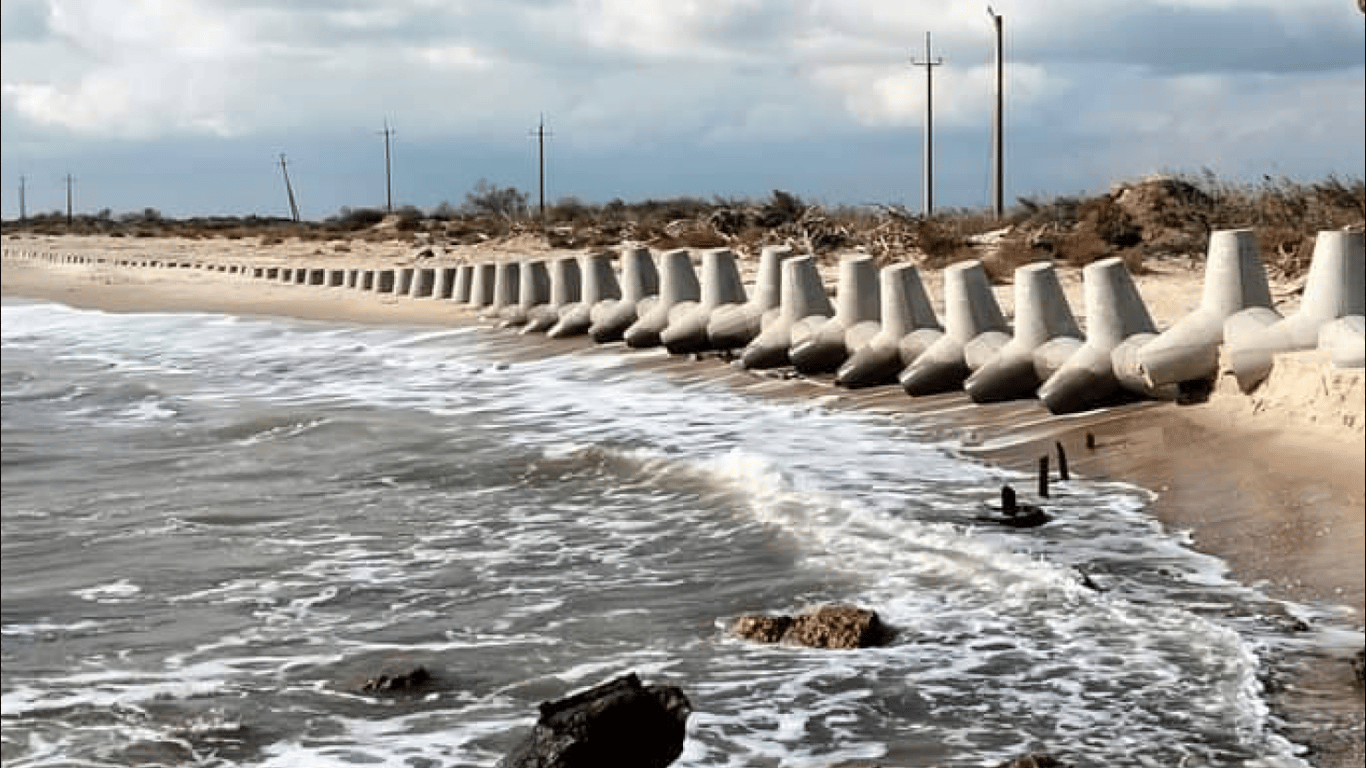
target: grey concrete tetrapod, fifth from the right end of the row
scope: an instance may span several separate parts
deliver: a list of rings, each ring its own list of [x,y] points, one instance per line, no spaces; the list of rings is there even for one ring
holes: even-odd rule
[[[944,335],[902,370],[902,388],[911,396],[958,389],[1009,342],[1005,328],[982,262],[949,265],[944,269]]]

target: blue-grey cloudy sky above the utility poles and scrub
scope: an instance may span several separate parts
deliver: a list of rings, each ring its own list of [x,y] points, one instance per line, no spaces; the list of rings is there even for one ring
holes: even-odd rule
[[[1354,0],[990,0],[1007,202],[1153,172],[1361,178]],[[994,31],[941,0],[3,0],[0,208],[305,217],[460,204],[478,179],[605,202],[989,205]]]

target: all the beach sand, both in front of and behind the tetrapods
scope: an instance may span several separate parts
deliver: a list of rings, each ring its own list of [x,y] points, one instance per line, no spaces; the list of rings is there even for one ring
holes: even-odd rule
[[[407,243],[284,242],[255,239],[41,238],[11,235],[5,251],[41,250],[92,256],[142,256],[202,262],[311,266],[380,266],[410,264]],[[545,253],[534,242],[503,242],[447,249],[443,264],[514,258]],[[555,251],[572,256],[576,251]],[[938,299],[937,275],[923,276]],[[1081,275],[1061,269],[1074,310],[1079,310]],[[1158,327],[1167,327],[1199,302],[1202,275],[1184,262],[1152,265],[1135,277]],[[395,298],[342,288],[287,286],[198,269],[115,268],[4,261],[4,295],[42,298],[111,312],[221,312],[272,314],[367,324],[474,323],[452,302]],[[1294,286],[1273,284],[1281,312],[1295,307]],[[999,287],[1011,310],[1011,288]],[[549,342],[518,338],[527,354],[582,348],[585,340]],[[964,452],[1027,470],[1038,456],[1067,447],[1075,473],[1123,480],[1157,493],[1153,512],[1173,530],[1190,533],[1195,548],[1224,559],[1231,575],[1290,601],[1341,605],[1362,626],[1366,609],[1366,394],[1362,372],[1333,372],[1313,353],[1281,359],[1272,379],[1242,395],[1223,377],[1206,403],[1139,403],[1075,417],[1052,417],[1037,402],[971,406],[962,394],[907,398],[897,387],[847,392],[828,381],[776,381],[719,361],[694,362],[663,355],[656,364],[673,376],[706,376],[768,396],[821,396],[835,406],[917,414],[943,425],[944,436]],[[1096,439],[1087,450],[1086,435]],[[1317,723],[1295,732],[1309,742],[1315,765],[1362,765],[1362,693],[1352,679],[1352,648],[1324,650],[1324,660],[1303,671],[1276,696],[1294,724]],[[1322,722],[1336,723],[1325,728]],[[1295,728],[1292,728],[1295,731]]]

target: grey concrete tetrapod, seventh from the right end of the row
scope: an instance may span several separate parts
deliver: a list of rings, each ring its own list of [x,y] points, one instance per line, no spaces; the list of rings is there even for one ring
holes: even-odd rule
[[[873,257],[840,257],[835,316],[807,317],[792,325],[792,347],[788,350],[792,366],[806,374],[836,370],[854,350],[877,335],[881,320],[878,302],[877,265]]]

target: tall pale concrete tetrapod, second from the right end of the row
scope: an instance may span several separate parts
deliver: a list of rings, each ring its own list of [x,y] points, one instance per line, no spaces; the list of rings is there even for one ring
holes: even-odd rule
[[[1138,373],[1149,387],[1213,380],[1224,320],[1253,306],[1272,306],[1257,236],[1251,230],[1210,232],[1199,307],[1135,353]]]

